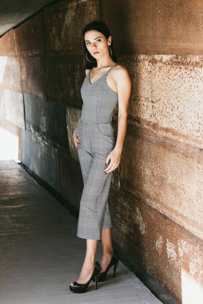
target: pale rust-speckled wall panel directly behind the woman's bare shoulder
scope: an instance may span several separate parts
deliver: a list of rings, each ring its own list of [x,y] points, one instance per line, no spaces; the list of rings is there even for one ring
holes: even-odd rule
[[[120,59],[132,81],[129,121],[138,128],[203,148],[203,56]]]

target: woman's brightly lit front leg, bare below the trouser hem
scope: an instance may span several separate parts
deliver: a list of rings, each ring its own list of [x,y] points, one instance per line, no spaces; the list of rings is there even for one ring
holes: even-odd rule
[[[91,278],[95,266],[97,243],[98,240],[86,240],[87,249],[86,249],[85,261],[83,263],[79,278],[76,281],[79,284],[85,284]],[[71,283],[70,285],[73,286],[73,283]]]

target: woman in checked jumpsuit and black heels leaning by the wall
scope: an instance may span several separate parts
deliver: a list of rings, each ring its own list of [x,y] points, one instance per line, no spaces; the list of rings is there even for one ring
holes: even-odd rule
[[[111,241],[111,216],[108,194],[119,163],[127,129],[131,80],[128,71],[118,64],[112,37],[106,24],[93,21],[83,30],[86,77],[81,87],[82,113],[73,133],[82,171],[82,191],[77,236],[86,239],[86,257],[79,278],[70,290],[85,292],[90,281],[105,281],[119,261]],[[91,69],[89,71],[89,69]],[[118,102],[118,131],[112,120]],[[102,242],[101,264],[95,263],[98,240]],[[103,271],[102,271],[103,270]]]

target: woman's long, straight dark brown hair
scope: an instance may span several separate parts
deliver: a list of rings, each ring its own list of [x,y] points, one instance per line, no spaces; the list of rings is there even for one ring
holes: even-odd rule
[[[82,31],[82,44],[83,44],[83,52],[84,52],[83,64],[84,64],[84,67],[86,69],[91,69],[92,67],[95,67],[96,64],[97,64],[96,59],[89,53],[89,51],[87,52],[87,47],[86,47],[86,43],[85,43],[85,33],[87,31],[92,30],[92,29],[102,33],[107,39],[109,38],[109,36],[111,36],[107,25],[103,21],[93,21],[93,22],[91,22],[91,23],[89,23],[85,26],[85,28]],[[111,53],[110,53],[110,47],[111,47],[112,56],[111,56]],[[109,47],[110,56],[112,57],[112,59],[115,62],[117,62],[117,57],[116,57],[116,53],[115,53],[115,50],[114,50],[114,43],[113,43],[112,37],[111,37],[111,46],[110,47]],[[87,60],[86,53],[87,53],[88,59],[90,61],[93,61],[93,62],[89,62]]]

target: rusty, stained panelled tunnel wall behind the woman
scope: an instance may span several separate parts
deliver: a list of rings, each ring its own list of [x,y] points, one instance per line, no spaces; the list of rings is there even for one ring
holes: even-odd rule
[[[81,32],[107,23],[132,81],[113,239],[183,304],[198,303],[203,281],[201,16],[198,0],[61,1],[0,39],[1,125],[22,136],[19,158],[79,208]]]

